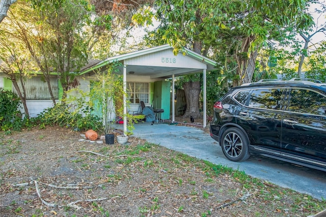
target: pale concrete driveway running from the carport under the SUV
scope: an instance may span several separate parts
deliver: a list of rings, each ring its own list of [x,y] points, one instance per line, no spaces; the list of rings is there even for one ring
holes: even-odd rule
[[[122,125],[115,125],[122,128]],[[288,162],[252,155],[243,162],[228,160],[221,147],[202,129],[188,126],[176,126],[166,123],[138,123],[134,125],[133,136],[146,139],[172,150],[185,153],[216,165],[224,165],[244,171],[246,174],[268,180],[282,187],[326,199],[326,172],[295,166]]]

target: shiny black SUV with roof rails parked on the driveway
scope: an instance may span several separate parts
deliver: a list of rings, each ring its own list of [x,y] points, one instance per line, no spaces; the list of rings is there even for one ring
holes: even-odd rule
[[[214,104],[210,136],[233,161],[258,153],[326,171],[326,84],[261,80]]]

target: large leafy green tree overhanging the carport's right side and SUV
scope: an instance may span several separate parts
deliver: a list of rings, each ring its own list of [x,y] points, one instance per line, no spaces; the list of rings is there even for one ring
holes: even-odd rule
[[[144,8],[133,19],[140,24],[159,20],[148,38],[172,45],[175,54],[187,47],[215,59],[218,79],[207,80],[224,87],[228,80],[233,86],[251,82],[264,41],[280,37],[288,26],[310,26],[307,6],[305,0],[155,1],[154,10]]]

